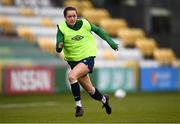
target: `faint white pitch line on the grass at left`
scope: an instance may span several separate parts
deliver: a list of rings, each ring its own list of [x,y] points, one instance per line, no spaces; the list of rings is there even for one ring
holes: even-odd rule
[[[40,106],[55,106],[53,101],[49,102],[31,102],[31,103],[15,103],[15,104],[0,104],[0,109],[6,108],[28,108],[28,107],[40,107]]]

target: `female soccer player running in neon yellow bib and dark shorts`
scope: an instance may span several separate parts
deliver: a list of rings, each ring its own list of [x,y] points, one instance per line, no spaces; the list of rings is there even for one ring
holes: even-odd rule
[[[118,44],[102,29],[91,24],[86,19],[78,19],[77,16],[76,8],[66,7],[64,9],[65,21],[57,25],[56,42],[56,51],[60,53],[63,50],[65,60],[71,67],[68,80],[76,103],[75,116],[80,117],[84,113],[79,84],[92,98],[102,102],[107,114],[111,114],[109,97],[102,95],[93,86],[88,75],[88,73],[93,71],[94,59],[96,57],[96,43],[91,31],[104,39],[114,50],[118,50]]]

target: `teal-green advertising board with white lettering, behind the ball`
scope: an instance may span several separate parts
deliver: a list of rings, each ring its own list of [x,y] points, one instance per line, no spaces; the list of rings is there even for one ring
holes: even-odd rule
[[[131,68],[97,68],[96,86],[101,91],[115,91],[124,89],[135,91],[137,89],[135,74]]]

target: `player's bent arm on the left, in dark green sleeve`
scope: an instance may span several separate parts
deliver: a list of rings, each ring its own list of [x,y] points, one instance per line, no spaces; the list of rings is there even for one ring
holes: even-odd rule
[[[56,51],[60,53],[63,49],[63,42],[64,42],[64,35],[63,33],[57,28],[56,34]]]

